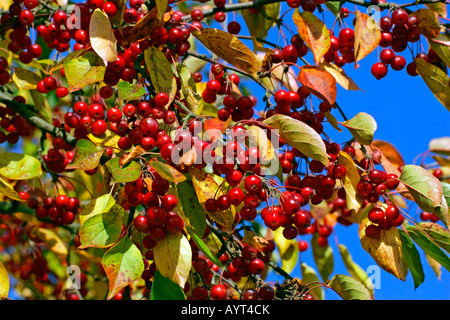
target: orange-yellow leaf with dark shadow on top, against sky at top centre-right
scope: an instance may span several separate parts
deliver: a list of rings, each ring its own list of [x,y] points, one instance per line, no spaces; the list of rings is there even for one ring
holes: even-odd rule
[[[297,26],[298,34],[311,49],[314,62],[318,65],[331,45],[331,37],[327,26],[309,11],[299,13],[297,9],[292,19]]]

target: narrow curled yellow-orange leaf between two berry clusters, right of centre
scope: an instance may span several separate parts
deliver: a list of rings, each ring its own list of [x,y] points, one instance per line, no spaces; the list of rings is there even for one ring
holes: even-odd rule
[[[346,152],[340,152],[338,157],[339,164],[343,165],[346,169],[344,178],[345,198],[347,201],[347,208],[349,210],[358,211],[361,208],[363,199],[356,191],[356,186],[361,180],[358,170],[356,169],[355,162]]]

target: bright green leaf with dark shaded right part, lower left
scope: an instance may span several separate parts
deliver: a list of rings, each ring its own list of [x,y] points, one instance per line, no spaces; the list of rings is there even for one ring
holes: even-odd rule
[[[115,205],[108,212],[96,214],[82,224],[79,230],[81,245],[78,248],[108,248],[120,239],[123,217],[120,213],[123,210],[118,207]]]

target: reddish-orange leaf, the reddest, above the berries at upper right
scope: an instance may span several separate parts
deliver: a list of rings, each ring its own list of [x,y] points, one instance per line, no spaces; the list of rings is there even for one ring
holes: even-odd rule
[[[328,101],[331,105],[335,104],[336,79],[328,71],[320,67],[305,65],[300,68],[297,80],[318,98]]]

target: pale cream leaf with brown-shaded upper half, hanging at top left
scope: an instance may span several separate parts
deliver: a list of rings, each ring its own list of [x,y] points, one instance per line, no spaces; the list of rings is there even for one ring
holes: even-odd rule
[[[95,9],[89,23],[89,37],[92,49],[102,58],[105,66],[117,59],[117,40],[108,16]]]

